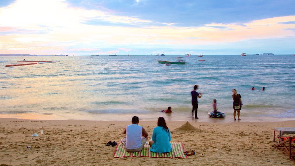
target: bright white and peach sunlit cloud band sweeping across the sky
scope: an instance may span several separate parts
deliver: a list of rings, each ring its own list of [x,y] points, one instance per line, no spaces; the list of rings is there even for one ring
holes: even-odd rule
[[[210,23],[181,27],[176,23],[155,24],[148,19],[124,14],[116,16],[112,11],[71,7],[58,0],[15,1],[0,8],[0,20],[0,41],[7,46],[5,50],[30,49],[35,51],[32,54],[103,50],[99,54],[108,55],[135,50],[129,48],[195,48],[216,43],[295,37],[295,16],[258,19],[243,24]]]

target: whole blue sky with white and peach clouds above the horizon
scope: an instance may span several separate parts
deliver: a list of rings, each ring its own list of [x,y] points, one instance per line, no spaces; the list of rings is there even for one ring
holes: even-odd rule
[[[294,0],[0,0],[0,54],[295,54]]]

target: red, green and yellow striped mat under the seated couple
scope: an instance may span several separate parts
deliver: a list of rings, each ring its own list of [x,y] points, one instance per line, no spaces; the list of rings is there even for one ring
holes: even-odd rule
[[[164,157],[164,158],[187,158],[183,153],[184,148],[182,142],[171,142],[172,151],[169,153],[154,153],[150,151],[150,146],[145,144],[140,152],[127,152],[122,143],[117,145],[113,157]]]

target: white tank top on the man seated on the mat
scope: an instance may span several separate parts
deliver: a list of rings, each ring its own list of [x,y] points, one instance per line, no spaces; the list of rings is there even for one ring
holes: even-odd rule
[[[141,146],[142,127],[131,124],[126,127],[126,148],[137,149]]]

